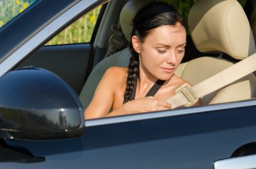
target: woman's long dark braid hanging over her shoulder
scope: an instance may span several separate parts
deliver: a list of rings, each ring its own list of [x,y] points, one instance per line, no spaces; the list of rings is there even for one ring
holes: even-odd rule
[[[135,52],[133,47],[130,47],[131,50],[131,58],[128,67],[128,75],[126,80],[126,89],[123,103],[129,101],[133,90],[136,88],[135,81],[139,77],[139,55]]]

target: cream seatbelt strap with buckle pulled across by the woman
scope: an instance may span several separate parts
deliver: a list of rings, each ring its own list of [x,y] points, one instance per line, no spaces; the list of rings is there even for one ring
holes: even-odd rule
[[[175,95],[168,98],[166,102],[172,104],[172,108],[179,106],[193,106],[199,98],[210,94],[224,86],[253,73],[256,70],[256,53],[243,61],[220,71],[216,75],[197,83],[191,87],[188,83],[183,84],[175,91]]]

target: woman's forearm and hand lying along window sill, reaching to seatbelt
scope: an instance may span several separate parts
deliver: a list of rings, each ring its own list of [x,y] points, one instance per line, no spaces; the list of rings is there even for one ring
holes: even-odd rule
[[[152,112],[158,110],[167,110],[172,108],[170,103],[164,100],[156,100],[152,96],[137,98],[126,102],[117,110],[110,112],[108,116],[116,116],[121,114],[134,114],[139,112]]]

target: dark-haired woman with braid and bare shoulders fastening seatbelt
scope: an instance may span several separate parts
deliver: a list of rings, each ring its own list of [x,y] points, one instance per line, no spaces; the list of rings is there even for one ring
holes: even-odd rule
[[[164,3],[143,7],[133,19],[128,69],[111,67],[106,71],[85,118],[170,109],[164,100],[186,83],[174,75],[185,45],[185,23],[177,11]]]

